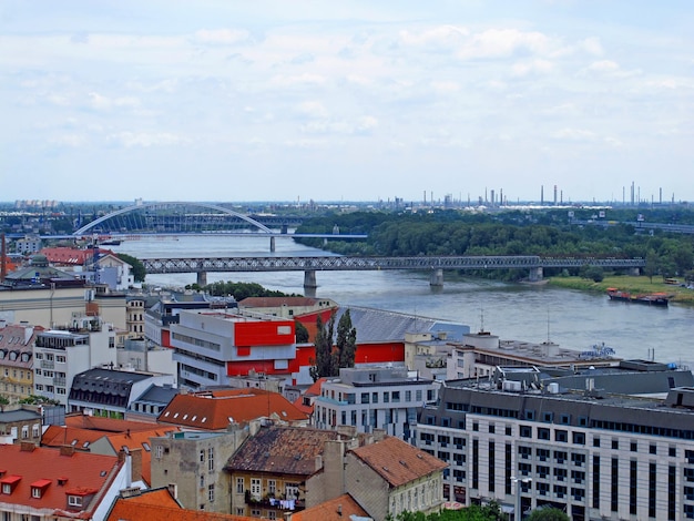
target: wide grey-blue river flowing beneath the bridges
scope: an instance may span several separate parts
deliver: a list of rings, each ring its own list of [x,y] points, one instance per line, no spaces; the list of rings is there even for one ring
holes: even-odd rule
[[[269,253],[267,237],[190,237],[126,241],[110,246],[139,258],[214,256],[315,256],[324,252],[277,238]],[[547,341],[586,350],[604,343],[621,358],[651,358],[694,368],[694,307],[666,308],[611,302],[593,295],[549,286],[510,285],[474,278],[453,279],[443,273],[443,288],[432,289],[427,273],[318,272],[315,295],[340,306],[365,306],[453,320],[504,340]],[[184,287],[195,274],[149,275],[146,283]],[[304,294],[303,272],[210,273],[216,280],[253,282],[268,289]]]

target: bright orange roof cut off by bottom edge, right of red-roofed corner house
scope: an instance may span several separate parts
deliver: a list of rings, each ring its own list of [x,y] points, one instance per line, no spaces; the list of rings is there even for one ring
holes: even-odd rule
[[[184,509],[166,489],[143,491],[131,498],[118,498],[105,521],[171,521],[173,519],[176,521],[257,521],[257,518]]]

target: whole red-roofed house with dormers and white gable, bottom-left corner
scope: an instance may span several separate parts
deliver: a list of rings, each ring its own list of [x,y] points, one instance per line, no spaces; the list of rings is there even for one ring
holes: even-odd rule
[[[0,445],[0,518],[104,519],[119,491],[131,487],[130,457]]]

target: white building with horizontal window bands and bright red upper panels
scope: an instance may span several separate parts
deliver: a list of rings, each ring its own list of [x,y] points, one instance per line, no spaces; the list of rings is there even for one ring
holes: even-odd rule
[[[294,320],[267,315],[181,311],[171,325],[178,384],[191,388],[227,386],[252,369],[288,372],[296,357]]]

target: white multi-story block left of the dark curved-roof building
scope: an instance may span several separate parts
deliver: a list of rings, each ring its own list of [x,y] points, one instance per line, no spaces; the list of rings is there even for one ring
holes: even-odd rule
[[[69,329],[47,329],[33,347],[34,394],[68,406],[75,375],[116,364],[113,327],[100,317],[73,317]]]

